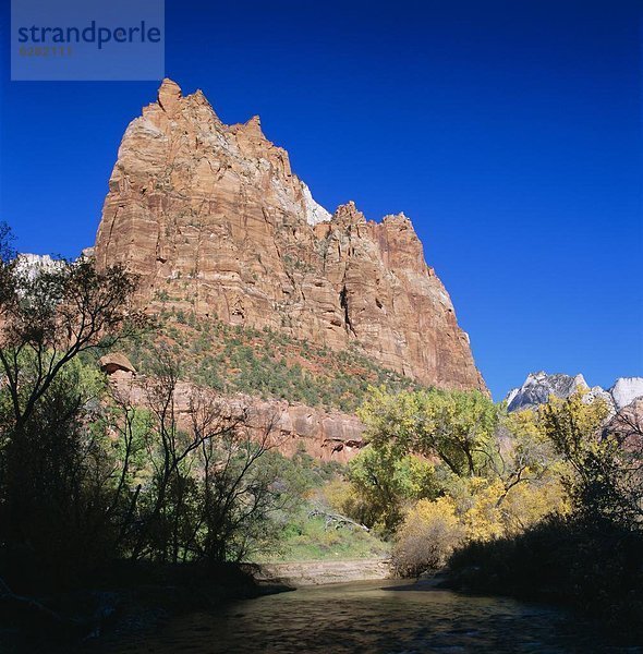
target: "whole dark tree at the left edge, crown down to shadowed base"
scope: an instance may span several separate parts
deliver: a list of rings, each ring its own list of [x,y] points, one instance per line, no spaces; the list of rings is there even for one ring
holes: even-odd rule
[[[101,383],[81,359],[139,322],[135,280],[89,259],[29,269],[0,232],[0,544],[14,564],[80,569],[111,541],[107,458],[90,428]]]

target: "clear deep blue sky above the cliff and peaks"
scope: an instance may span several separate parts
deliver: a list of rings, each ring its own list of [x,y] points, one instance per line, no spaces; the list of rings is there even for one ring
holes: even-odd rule
[[[328,209],[410,216],[495,398],[542,368],[609,386],[643,375],[641,8],[168,0],[167,74],[259,113]],[[0,217],[75,255],[157,84],[11,83],[3,29]]]

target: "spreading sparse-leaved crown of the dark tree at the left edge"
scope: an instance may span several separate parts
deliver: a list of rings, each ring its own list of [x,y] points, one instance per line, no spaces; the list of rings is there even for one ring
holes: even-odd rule
[[[0,366],[20,438],[66,364],[83,352],[113,347],[143,316],[131,310],[136,282],[121,266],[98,271],[82,258],[29,270],[14,258],[0,261]]]

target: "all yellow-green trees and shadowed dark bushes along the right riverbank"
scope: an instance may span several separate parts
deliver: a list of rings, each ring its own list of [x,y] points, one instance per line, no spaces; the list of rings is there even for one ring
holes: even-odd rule
[[[507,414],[476,392],[375,390],[340,504],[388,534],[398,573],[643,618],[643,429],[578,392]],[[620,422],[619,422],[620,421]],[[619,427],[620,425],[620,427]],[[640,635],[640,634],[639,634]]]

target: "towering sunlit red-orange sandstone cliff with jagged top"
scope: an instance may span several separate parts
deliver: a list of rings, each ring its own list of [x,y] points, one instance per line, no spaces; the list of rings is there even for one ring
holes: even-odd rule
[[[151,307],[353,343],[422,383],[486,390],[407,217],[330,216],[258,117],[225,125],[171,81],[123,136],[95,252],[141,275]]]

